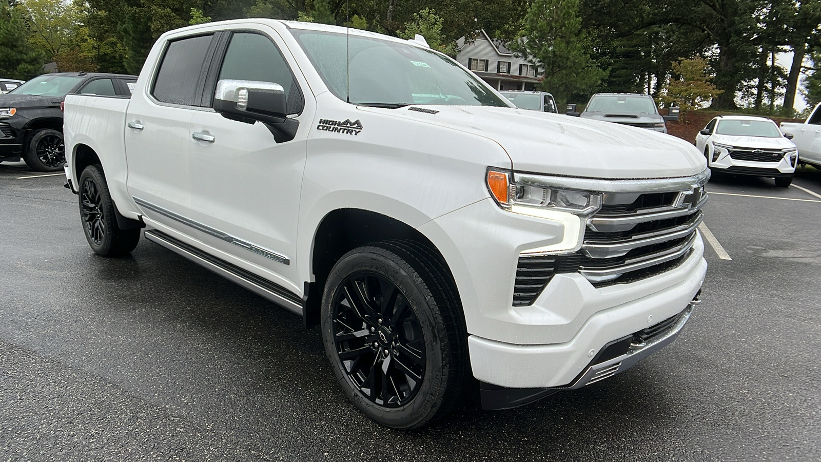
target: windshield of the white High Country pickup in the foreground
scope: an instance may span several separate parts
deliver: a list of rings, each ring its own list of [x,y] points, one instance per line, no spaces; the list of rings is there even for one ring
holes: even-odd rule
[[[410,44],[317,30],[294,30],[302,49],[337,98],[353,104],[507,104],[452,59]],[[350,39],[350,43],[347,43]],[[350,46],[350,76],[346,49]],[[348,99],[350,91],[350,99]]]

